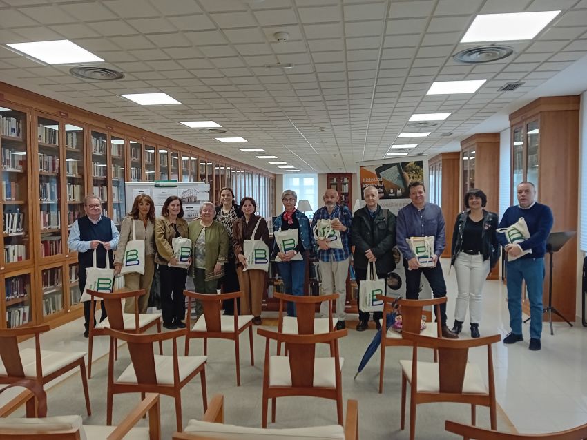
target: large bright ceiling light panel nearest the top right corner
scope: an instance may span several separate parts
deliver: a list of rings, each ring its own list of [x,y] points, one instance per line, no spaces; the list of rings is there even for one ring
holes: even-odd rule
[[[543,30],[561,11],[479,14],[469,26],[461,43],[473,41],[530,40]]]

